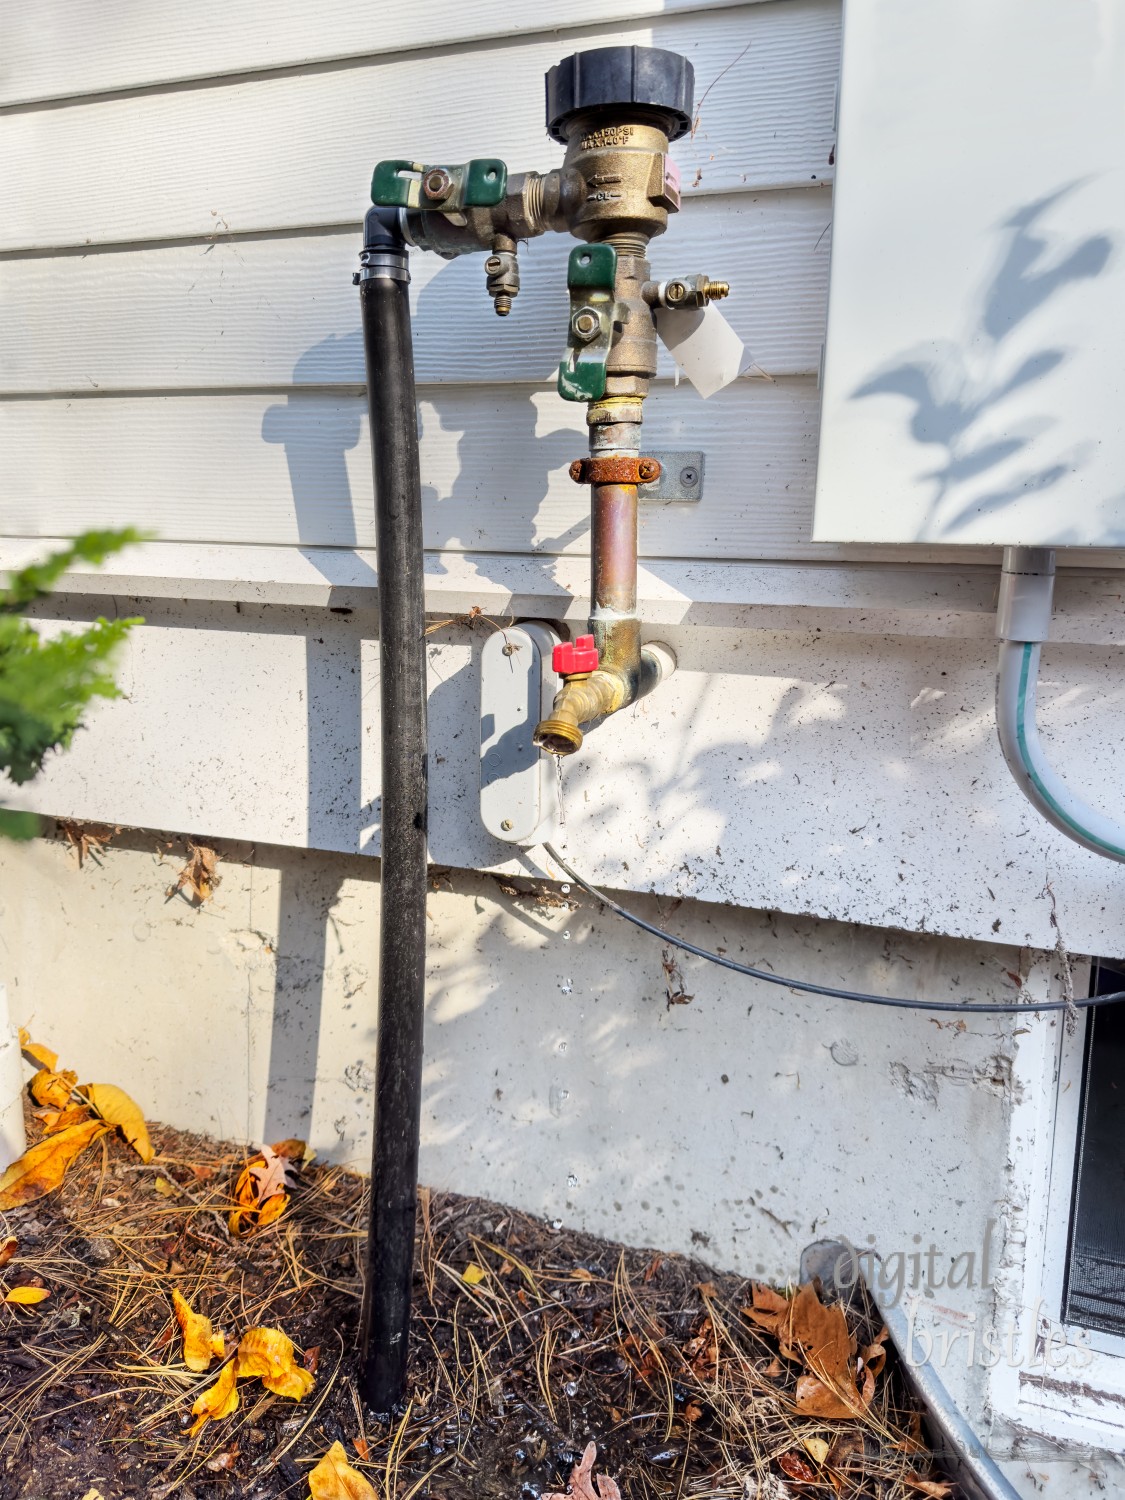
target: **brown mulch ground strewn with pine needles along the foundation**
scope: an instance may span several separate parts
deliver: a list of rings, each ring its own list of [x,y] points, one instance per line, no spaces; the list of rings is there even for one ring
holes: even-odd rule
[[[588,1442],[624,1500],[946,1492],[890,1366],[862,1418],[795,1416],[801,1366],[742,1316],[741,1276],[454,1194],[422,1196],[410,1401],[380,1422],[356,1378],[364,1179],[309,1166],[282,1218],[232,1239],[246,1152],[152,1136],[152,1164],[106,1137],[58,1191],[0,1215],[0,1242],[18,1240],[0,1298],[50,1288],[0,1305],[0,1500],[304,1500],[336,1440],[381,1500],[537,1500]],[[188,1436],[218,1364],[183,1365],[172,1288],[228,1352],[282,1329],[310,1395],[246,1382],[234,1414]],[[849,1320],[860,1347],[878,1332]]]

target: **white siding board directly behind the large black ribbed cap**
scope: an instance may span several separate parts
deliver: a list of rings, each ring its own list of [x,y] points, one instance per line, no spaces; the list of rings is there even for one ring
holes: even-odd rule
[[[699,128],[676,147],[688,192],[831,176],[837,0],[788,0],[624,32],[418,54],[300,75],[0,114],[0,249],[352,224],[382,156],[560,160],[546,68],[608,40],[684,52]]]

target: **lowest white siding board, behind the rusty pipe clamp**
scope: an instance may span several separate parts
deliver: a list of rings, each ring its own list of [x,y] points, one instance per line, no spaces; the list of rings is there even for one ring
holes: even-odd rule
[[[698,506],[646,506],[645,556],[808,555],[813,381],[648,402],[651,446],[704,448]],[[584,552],[567,464],[585,410],[550,392],[423,387],[426,546]],[[166,542],[374,546],[366,402],[344,393],[24,399],[0,406],[0,532],[132,524]]]

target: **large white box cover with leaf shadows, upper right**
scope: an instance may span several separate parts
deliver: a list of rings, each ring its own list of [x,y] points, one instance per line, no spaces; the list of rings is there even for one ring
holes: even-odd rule
[[[1125,546],[1124,0],[844,0],[818,542]]]

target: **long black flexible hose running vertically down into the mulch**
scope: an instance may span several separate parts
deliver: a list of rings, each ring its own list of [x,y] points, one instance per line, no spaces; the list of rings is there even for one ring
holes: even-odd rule
[[[380,572],[382,861],[363,1396],[404,1396],[414,1272],[426,998],[426,621],[406,248],[368,216],[360,273]]]

